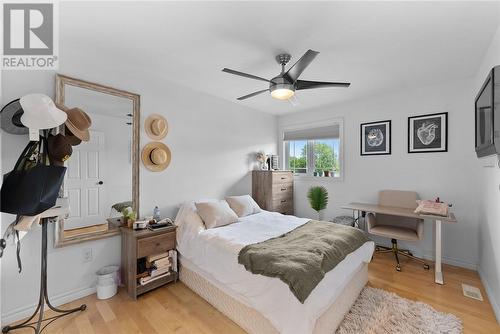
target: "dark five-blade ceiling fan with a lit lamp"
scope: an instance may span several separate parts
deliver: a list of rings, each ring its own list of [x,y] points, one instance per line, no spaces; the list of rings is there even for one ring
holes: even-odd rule
[[[319,54],[317,51],[307,50],[304,55],[297,60],[292,67],[285,72],[285,66],[288,64],[292,56],[287,53],[279,54],[276,56],[276,61],[281,65],[281,73],[271,80],[258,77],[256,75],[243,73],[229,68],[222,69],[223,72],[239,75],[245,78],[265,81],[269,83],[269,88],[253,92],[251,94],[238,97],[238,100],[245,100],[256,95],[271,92],[271,96],[278,100],[288,100],[294,96],[296,90],[324,88],[324,87],[349,87],[348,82],[324,82],[324,81],[306,81],[298,80],[299,76],[311,64],[311,62]]]

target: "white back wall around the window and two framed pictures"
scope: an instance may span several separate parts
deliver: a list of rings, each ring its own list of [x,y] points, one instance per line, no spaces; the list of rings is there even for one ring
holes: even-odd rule
[[[336,117],[344,119],[344,180],[297,181],[296,215],[315,217],[306,193],[317,184],[327,187],[330,194],[325,214],[328,219],[351,214],[340,208],[349,202],[376,202],[381,189],[415,190],[421,198],[439,196],[453,203],[459,221],[443,227],[443,260],[476,268],[478,187],[470,91],[470,81],[444,83],[280,117],[280,128]],[[448,152],[408,154],[407,117],[438,112],[449,113]],[[387,119],[392,120],[392,154],[360,156],[360,123]],[[426,224],[424,240],[408,244],[408,248],[417,256],[433,258],[433,232],[433,225]]]

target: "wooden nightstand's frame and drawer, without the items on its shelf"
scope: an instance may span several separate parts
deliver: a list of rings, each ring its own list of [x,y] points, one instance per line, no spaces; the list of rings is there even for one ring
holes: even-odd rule
[[[156,289],[159,286],[177,280],[178,273],[172,272],[167,277],[150,282],[146,285],[137,283],[137,260],[150,255],[175,250],[176,226],[162,228],[157,231],[137,230],[121,227],[122,233],[122,283],[127,293],[133,299],[137,296]]]

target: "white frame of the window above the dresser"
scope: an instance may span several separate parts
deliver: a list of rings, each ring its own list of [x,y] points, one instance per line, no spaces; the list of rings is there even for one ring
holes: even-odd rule
[[[291,124],[281,127],[279,131],[279,138],[281,141],[281,152],[282,152],[282,162],[281,168],[286,169],[288,167],[288,156],[290,154],[290,145],[283,138],[285,132],[294,130],[306,130],[312,128],[321,128],[330,125],[339,126],[339,166],[340,166],[340,176],[336,177],[321,177],[314,176],[314,148],[311,140],[307,141],[307,173],[306,174],[294,174],[294,179],[297,181],[326,181],[326,182],[339,182],[344,180],[345,167],[344,167],[344,120],[343,118],[330,118],[322,121],[315,121],[310,123],[300,123]]]

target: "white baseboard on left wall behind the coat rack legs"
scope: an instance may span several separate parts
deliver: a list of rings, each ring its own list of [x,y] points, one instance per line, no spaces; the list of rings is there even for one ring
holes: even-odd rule
[[[60,306],[74,300],[86,297],[96,292],[95,287],[85,287],[73,291],[65,292],[56,296],[50,296],[50,303],[54,306]],[[37,303],[18,307],[14,310],[2,313],[2,326],[9,325],[18,320],[29,317],[34,311]]]

